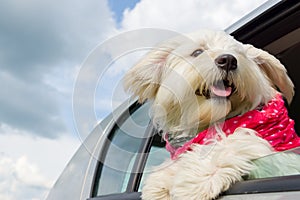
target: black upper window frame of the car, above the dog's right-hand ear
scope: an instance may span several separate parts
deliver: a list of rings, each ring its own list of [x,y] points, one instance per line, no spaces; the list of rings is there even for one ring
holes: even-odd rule
[[[236,30],[228,27],[225,31],[243,43],[263,48],[288,32],[299,28],[300,20],[297,20],[299,17],[300,2],[282,0]]]

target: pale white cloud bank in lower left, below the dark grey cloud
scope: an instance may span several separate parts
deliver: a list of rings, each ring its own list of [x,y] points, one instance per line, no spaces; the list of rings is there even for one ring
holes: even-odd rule
[[[28,137],[0,126],[0,199],[44,199],[80,145],[76,137]]]

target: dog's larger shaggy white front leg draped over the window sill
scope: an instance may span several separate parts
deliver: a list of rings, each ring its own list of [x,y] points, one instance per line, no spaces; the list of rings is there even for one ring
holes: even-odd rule
[[[174,177],[172,200],[215,199],[251,171],[251,160],[273,152],[268,142],[249,129],[238,129],[216,142],[206,155],[204,147],[195,145],[181,156],[178,168],[182,170]]]

